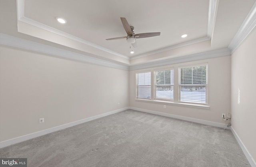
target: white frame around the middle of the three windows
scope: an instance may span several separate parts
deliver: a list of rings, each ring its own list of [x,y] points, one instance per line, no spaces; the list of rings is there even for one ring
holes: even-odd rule
[[[166,86],[169,86],[170,85],[170,88],[173,89],[173,95],[172,95],[172,99],[167,99],[167,98],[160,98],[160,97],[156,97],[156,88],[157,88],[157,85],[156,85],[156,72],[161,72],[161,71],[168,71],[170,70],[170,84],[166,84]],[[173,70],[173,82],[172,82],[172,77],[171,77],[171,70]],[[171,67],[171,68],[164,68],[164,69],[155,69],[154,70],[154,85],[153,85],[153,89],[154,89],[154,100],[162,100],[162,101],[174,101],[174,79],[175,78],[175,74],[174,74],[174,67]],[[173,84],[172,84],[173,83]]]

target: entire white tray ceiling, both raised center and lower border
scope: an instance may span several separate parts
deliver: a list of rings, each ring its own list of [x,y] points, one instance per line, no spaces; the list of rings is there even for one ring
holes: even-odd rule
[[[0,1],[1,33],[127,65],[227,48],[256,2],[18,0],[23,1],[22,10],[26,22],[22,18],[17,20],[16,0]],[[206,38],[209,27],[209,4],[215,1],[219,3],[215,13],[216,22],[212,20],[212,23],[215,23],[212,27],[214,31],[212,36]],[[59,24],[56,16],[65,18],[67,23]],[[105,40],[126,36],[120,17],[125,17],[130,26],[135,27],[136,34],[161,32],[161,35],[137,39],[138,48],[134,49],[134,54],[130,54],[130,45],[125,39]],[[37,27],[37,24],[40,26]],[[56,32],[63,32],[84,41],[70,40]],[[188,34],[188,37],[181,38],[182,34]],[[207,41],[210,38],[211,40]],[[133,60],[128,60],[128,57]]]

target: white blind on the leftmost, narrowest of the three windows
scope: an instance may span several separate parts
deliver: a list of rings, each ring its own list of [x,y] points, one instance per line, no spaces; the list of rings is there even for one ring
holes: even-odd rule
[[[136,74],[136,98],[151,99],[151,72]]]

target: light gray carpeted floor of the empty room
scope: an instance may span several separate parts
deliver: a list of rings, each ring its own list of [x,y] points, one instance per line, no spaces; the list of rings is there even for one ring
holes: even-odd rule
[[[250,167],[230,130],[126,110],[0,149],[28,167]]]

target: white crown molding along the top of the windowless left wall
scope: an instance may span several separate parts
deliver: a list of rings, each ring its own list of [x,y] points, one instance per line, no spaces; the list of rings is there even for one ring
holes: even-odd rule
[[[100,66],[107,66],[107,67],[111,67],[111,68],[117,68],[120,70],[129,70],[128,66],[125,66],[122,64],[117,64],[114,62],[109,62],[106,60],[93,58],[91,56],[86,56],[83,54],[70,52],[67,50],[60,49],[60,48],[55,48],[52,46],[39,44],[37,42],[32,42],[32,41],[24,40],[21,38],[16,38],[14,36],[9,36],[6,34],[0,34],[0,44],[7,45],[7,46],[13,46],[13,47],[17,47],[17,48],[22,48],[22,49],[26,49],[26,50],[32,50],[32,51],[41,52],[41,53],[45,53],[45,54],[60,56],[63,58],[79,60],[82,62],[98,64]]]

